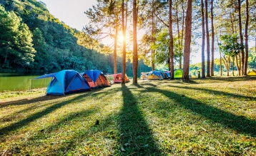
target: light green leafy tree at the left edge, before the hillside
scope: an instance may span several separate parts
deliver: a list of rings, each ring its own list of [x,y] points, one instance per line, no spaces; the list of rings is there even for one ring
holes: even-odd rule
[[[29,27],[14,11],[0,5],[0,65],[2,68],[31,68],[36,51]]]

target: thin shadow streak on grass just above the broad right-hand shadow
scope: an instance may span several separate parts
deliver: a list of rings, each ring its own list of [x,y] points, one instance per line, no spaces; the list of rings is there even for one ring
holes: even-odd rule
[[[210,89],[205,89],[205,88],[192,88],[192,87],[172,86],[172,85],[167,85],[167,86],[172,87],[172,88],[184,88],[184,89],[189,89],[189,90],[204,90],[206,92],[215,93],[215,94],[218,94],[218,95],[234,96],[236,98],[243,98],[243,99],[250,98],[250,100],[256,100],[256,97],[245,96],[245,95],[238,95],[238,94],[234,94],[234,93],[227,93],[227,92],[222,92],[222,91],[218,91],[218,90],[210,90]]]

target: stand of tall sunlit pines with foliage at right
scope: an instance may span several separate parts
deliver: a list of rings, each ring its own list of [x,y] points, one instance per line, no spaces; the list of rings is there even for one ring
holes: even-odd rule
[[[256,49],[249,49],[248,41],[256,39],[256,1],[97,2],[96,6],[85,11],[91,21],[84,27],[84,33],[99,40],[107,36],[113,38],[114,44],[109,47],[114,48],[114,53],[117,49],[122,49],[123,63],[125,58],[132,59],[134,76],[137,75],[137,60],[143,58],[144,63],[152,66],[153,71],[155,64],[166,64],[171,78],[174,75],[174,66],[178,65],[184,70],[182,80],[188,80],[190,52],[195,44],[202,47],[202,78],[215,76],[215,61],[220,63],[220,76],[223,70],[229,76],[230,67],[233,75],[234,69],[237,69],[239,76],[246,76],[248,65],[250,68],[255,66]],[[137,29],[144,31],[139,41]],[[124,39],[117,46],[121,34],[123,38],[129,39]],[[202,43],[196,43],[197,38],[202,38]],[[220,56],[216,60],[217,53]],[[136,79],[134,83],[137,83]]]

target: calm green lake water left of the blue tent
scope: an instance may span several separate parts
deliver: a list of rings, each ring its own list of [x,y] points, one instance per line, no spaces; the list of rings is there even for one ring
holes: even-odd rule
[[[49,85],[51,78],[32,80],[41,75],[25,75],[18,73],[0,73],[0,92],[8,90],[29,90],[44,88]]]

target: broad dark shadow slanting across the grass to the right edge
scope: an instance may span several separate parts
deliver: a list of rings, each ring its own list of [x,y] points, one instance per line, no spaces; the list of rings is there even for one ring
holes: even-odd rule
[[[214,108],[210,105],[202,103],[199,100],[188,98],[184,95],[179,95],[177,93],[170,92],[167,90],[150,88],[150,90],[148,91],[162,93],[163,95],[168,97],[170,100],[175,100],[176,103],[179,103],[179,105],[182,105],[182,107],[186,108],[187,110],[192,110],[198,115],[201,115],[204,118],[212,120],[212,122],[214,123],[220,123],[222,125],[227,126],[227,128],[236,130],[237,132],[244,133],[252,137],[256,137],[256,121],[255,120],[248,119],[244,116],[238,116],[238,115],[226,112],[225,110]]]

